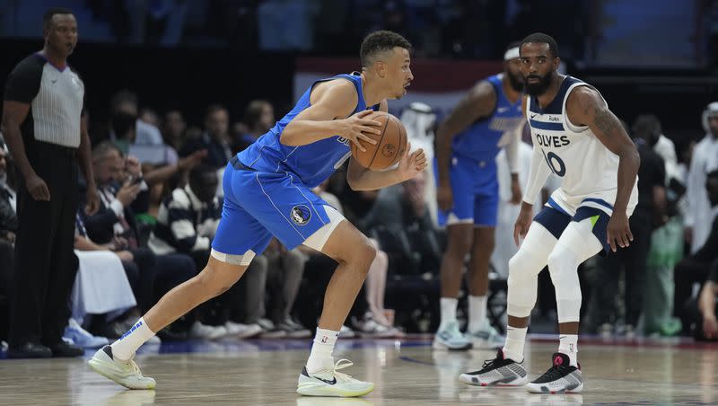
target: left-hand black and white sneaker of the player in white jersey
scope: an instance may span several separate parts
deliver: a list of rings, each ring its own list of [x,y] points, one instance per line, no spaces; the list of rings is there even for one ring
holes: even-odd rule
[[[475,386],[523,386],[529,382],[523,364],[504,358],[503,349],[498,350],[494,359],[486,360],[478,371],[461,374],[459,380]]]

